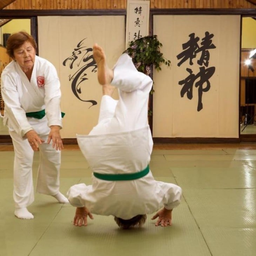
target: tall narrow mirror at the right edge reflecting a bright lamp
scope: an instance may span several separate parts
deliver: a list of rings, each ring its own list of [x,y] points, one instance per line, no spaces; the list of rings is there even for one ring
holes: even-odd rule
[[[240,134],[256,134],[256,18],[242,18]]]

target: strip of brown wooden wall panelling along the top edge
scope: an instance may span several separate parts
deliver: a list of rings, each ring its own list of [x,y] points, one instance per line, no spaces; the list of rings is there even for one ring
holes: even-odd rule
[[[16,0],[4,9],[126,9],[126,0]],[[150,0],[150,8],[256,8],[247,0]]]

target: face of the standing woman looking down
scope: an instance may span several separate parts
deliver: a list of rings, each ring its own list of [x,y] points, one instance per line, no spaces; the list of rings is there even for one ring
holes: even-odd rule
[[[14,49],[14,60],[18,62],[24,72],[33,69],[35,62],[35,48],[31,42],[26,41],[19,48]]]

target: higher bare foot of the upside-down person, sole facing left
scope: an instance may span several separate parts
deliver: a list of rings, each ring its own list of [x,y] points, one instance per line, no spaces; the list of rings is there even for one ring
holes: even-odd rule
[[[98,67],[99,83],[109,85],[113,79],[113,70],[108,67],[105,52],[97,43],[93,45],[93,58]]]

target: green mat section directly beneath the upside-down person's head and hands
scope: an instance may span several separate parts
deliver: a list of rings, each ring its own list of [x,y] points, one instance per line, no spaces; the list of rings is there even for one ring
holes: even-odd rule
[[[211,255],[184,202],[166,228],[155,227],[153,215],[141,229],[120,230],[112,216],[97,215],[87,227],[75,227],[74,213],[73,207],[62,208],[30,255]]]

